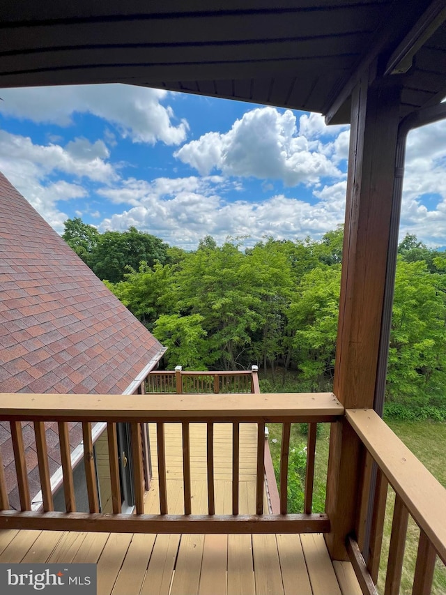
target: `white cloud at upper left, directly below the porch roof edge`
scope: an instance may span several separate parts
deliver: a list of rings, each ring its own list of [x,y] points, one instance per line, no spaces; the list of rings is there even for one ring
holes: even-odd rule
[[[167,91],[123,84],[3,89],[0,112],[38,123],[70,126],[76,113],[93,114],[114,124],[132,142],[176,145],[186,138],[185,119],[160,102]]]

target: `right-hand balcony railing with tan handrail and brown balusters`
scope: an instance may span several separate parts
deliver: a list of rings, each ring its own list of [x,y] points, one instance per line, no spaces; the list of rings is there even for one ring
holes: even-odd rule
[[[346,410],[346,423],[355,430],[365,451],[356,534],[348,536],[346,542],[362,590],[376,593],[390,485],[395,503],[384,594],[400,592],[411,515],[420,527],[412,593],[427,595],[431,593],[437,555],[446,564],[446,490],[372,409]],[[362,552],[367,543],[366,563]]]

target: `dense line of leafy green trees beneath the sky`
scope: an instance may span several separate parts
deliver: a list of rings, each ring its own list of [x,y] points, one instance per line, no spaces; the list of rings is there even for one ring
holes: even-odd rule
[[[269,390],[332,386],[343,229],[321,241],[264,239],[186,252],[130,227],[100,234],[79,218],[63,238],[168,347],[167,368],[257,364]],[[399,245],[387,412],[446,418],[446,253],[413,235]]]

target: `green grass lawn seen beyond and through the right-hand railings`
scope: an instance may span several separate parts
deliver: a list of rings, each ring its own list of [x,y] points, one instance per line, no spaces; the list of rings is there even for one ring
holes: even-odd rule
[[[433,476],[446,488],[446,423],[434,423],[430,421],[390,421],[387,422],[390,428],[399,436],[399,438],[413,451],[422,463],[429,469]],[[321,424],[322,432],[316,442],[316,467],[314,474],[314,512],[323,511],[323,502],[325,499],[325,484],[327,481],[327,462],[328,445],[330,439],[330,425]],[[279,461],[280,461],[280,443],[282,439],[282,424],[268,424],[270,431],[270,451],[272,462],[275,467],[277,484],[279,483]],[[307,444],[307,436],[300,429],[300,424],[295,423],[291,426],[290,450],[302,450]],[[298,499],[300,502],[300,499]],[[292,502],[289,498],[289,507]],[[295,504],[295,502],[294,502]],[[322,508],[321,508],[322,506]],[[385,515],[385,529],[383,538],[383,553],[381,556],[380,578],[378,580],[378,591],[384,592],[385,568],[387,566],[387,553],[390,541],[390,531],[392,526],[392,515],[394,506],[394,492],[389,489],[387,497],[387,509]],[[293,512],[302,512],[302,510],[292,510]],[[290,509],[291,512],[291,509]],[[438,511],[438,515],[444,515],[446,511]],[[410,595],[412,592],[413,572],[415,569],[415,560],[417,557],[418,537],[420,530],[410,518],[408,526],[408,538],[406,541],[406,553],[403,566],[403,575],[401,578],[400,595]],[[432,595],[446,594],[446,568],[443,562],[437,561],[436,573]]]

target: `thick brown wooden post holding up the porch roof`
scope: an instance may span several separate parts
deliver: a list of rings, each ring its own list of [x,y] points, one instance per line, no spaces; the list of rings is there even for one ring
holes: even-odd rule
[[[352,97],[344,255],[334,393],[349,408],[373,407],[387,278],[387,250],[399,125],[398,86],[368,73]],[[327,506],[332,559],[346,560],[357,526],[360,440],[345,423],[330,437]]]

